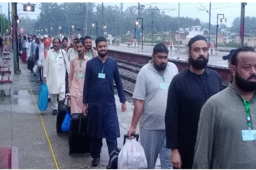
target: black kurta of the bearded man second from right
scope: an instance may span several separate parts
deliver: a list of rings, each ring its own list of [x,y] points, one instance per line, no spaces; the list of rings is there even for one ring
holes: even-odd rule
[[[217,72],[205,69],[199,75],[185,69],[172,79],[165,113],[166,147],[178,149],[182,169],[191,169],[200,110],[222,90]]]

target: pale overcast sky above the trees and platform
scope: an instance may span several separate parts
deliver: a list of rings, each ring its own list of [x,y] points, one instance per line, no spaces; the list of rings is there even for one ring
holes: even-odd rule
[[[142,2],[140,5],[147,5],[152,4],[154,2]],[[38,2],[35,2],[33,4],[36,4],[35,12],[24,12],[23,11],[23,5],[22,3],[17,4],[17,10],[18,15],[25,16],[25,14],[28,14],[28,16],[31,19],[36,19],[38,15],[41,12],[39,9]],[[2,6],[2,13],[8,14],[8,3],[0,3]],[[109,3],[104,2],[105,5],[117,5],[120,7],[120,3]],[[124,10],[132,5],[138,5],[138,3],[123,3]],[[153,7],[157,6],[161,11],[165,11],[167,15],[178,17],[178,5],[179,3],[166,3],[166,2],[158,2],[152,4]],[[146,6],[149,7],[150,5]],[[204,10],[209,11],[209,2],[207,3],[196,3],[196,2],[181,2],[180,3],[180,17],[191,17],[191,18],[199,18],[201,22],[209,22],[209,14]],[[256,17],[256,1],[255,2],[249,2],[245,6],[245,16],[251,16]],[[170,9],[175,9],[170,10]],[[201,10],[203,9],[203,10]],[[10,3],[10,12],[11,12],[11,3]],[[143,10],[141,11],[143,12]],[[21,15],[24,14],[24,15]],[[241,15],[241,3],[231,3],[231,2],[219,2],[219,3],[211,3],[211,24],[216,25],[217,24],[217,14],[224,14],[224,18],[227,18],[227,27],[232,26],[232,22],[236,17],[240,17]],[[10,15],[11,16],[11,15]]]

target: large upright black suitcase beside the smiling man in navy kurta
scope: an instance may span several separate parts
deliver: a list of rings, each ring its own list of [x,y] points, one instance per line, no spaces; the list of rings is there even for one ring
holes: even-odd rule
[[[89,117],[80,113],[72,114],[69,128],[69,155],[90,153]]]

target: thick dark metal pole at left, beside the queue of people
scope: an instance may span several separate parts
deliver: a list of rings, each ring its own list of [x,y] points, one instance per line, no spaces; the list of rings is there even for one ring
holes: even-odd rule
[[[19,44],[18,44],[18,29],[17,29],[17,2],[12,2],[12,40],[13,40],[13,65],[14,74],[21,74],[19,69]]]

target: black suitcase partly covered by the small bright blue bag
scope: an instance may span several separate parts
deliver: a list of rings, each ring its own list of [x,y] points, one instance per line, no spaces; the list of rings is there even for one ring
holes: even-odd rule
[[[68,99],[68,102],[69,102],[69,99]],[[70,107],[66,106],[64,103],[65,103],[65,100],[61,100],[61,101],[59,101],[59,104],[58,104],[57,120],[56,120],[56,132],[58,133],[58,135],[60,133],[68,133],[68,132],[61,130],[62,122],[67,113],[66,110],[68,110],[70,112]]]

